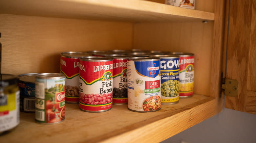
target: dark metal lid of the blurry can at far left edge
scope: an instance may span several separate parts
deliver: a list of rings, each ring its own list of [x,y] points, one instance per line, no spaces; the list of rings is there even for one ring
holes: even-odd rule
[[[0,87],[7,87],[9,85],[17,85],[18,77],[12,74],[0,74]]]

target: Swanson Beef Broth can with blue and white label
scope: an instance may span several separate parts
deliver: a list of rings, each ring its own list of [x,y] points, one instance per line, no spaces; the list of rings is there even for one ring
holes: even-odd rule
[[[160,110],[160,58],[133,57],[127,61],[128,109],[134,112]]]

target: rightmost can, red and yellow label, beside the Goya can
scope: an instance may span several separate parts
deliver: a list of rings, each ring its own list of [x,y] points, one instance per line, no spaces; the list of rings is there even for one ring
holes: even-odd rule
[[[194,54],[173,53],[180,56],[179,88],[180,97],[191,97],[194,94]]]

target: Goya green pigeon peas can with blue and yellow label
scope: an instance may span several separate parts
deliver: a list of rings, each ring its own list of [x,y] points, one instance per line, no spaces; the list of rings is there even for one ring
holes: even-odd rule
[[[176,104],[179,102],[179,56],[155,55],[160,57],[161,103]]]

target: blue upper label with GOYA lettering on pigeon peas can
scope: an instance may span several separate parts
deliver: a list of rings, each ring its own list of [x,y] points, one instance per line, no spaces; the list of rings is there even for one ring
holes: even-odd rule
[[[161,58],[161,83],[169,80],[179,81],[179,58]]]

